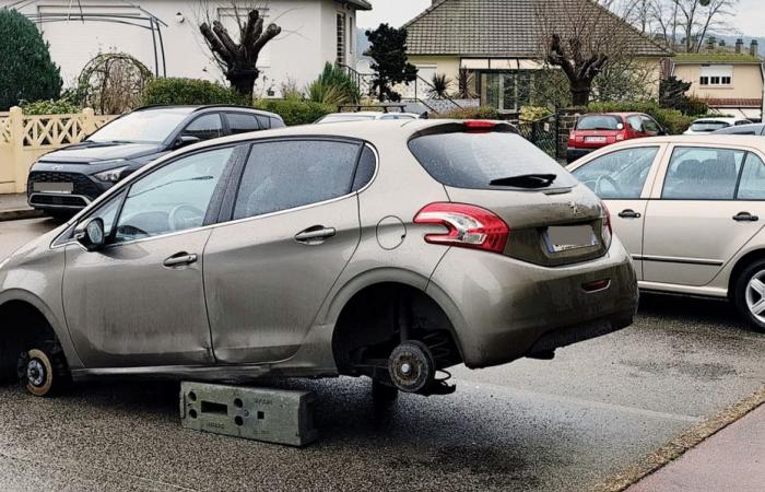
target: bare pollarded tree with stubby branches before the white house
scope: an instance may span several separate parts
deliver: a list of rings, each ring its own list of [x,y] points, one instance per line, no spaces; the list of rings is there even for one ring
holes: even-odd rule
[[[263,17],[258,9],[251,9],[247,15],[238,14],[238,7],[234,3],[235,20],[239,28],[239,42],[235,42],[219,20],[210,23],[203,22],[199,30],[204,36],[221,70],[239,94],[250,97],[255,90],[255,81],[260,75],[258,70],[258,57],[263,47],[274,37],[281,34],[282,28],[276,24],[264,27]]]

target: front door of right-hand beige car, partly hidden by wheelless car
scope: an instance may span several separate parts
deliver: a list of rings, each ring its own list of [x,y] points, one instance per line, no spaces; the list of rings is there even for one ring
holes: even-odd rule
[[[613,231],[635,259],[638,279],[643,276],[640,256],[648,195],[661,153],[661,145],[636,145],[593,157],[572,171],[611,211]]]

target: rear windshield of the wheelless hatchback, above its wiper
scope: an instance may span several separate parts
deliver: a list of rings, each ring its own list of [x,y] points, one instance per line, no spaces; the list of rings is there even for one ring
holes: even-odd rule
[[[516,133],[436,133],[412,139],[409,149],[434,179],[455,188],[498,189],[493,180],[530,174],[555,175],[550,188],[577,184],[563,166]]]

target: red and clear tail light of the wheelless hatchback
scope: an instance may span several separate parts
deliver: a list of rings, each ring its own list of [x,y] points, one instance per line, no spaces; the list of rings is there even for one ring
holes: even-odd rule
[[[510,229],[495,213],[466,203],[431,203],[417,212],[414,223],[446,227],[445,234],[427,234],[427,243],[493,253],[502,253],[510,235]]]

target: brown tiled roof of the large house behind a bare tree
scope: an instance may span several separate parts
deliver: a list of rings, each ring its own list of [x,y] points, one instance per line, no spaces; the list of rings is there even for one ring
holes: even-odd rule
[[[544,0],[436,0],[408,22],[410,55],[451,55],[496,58],[539,58],[541,22],[538,3]],[[602,9],[591,0],[558,0],[566,9],[550,9],[553,23],[565,25],[566,12]],[[619,16],[604,15],[604,27],[621,31],[635,55],[667,57],[671,54]],[[626,27],[626,28],[625,28]]]

